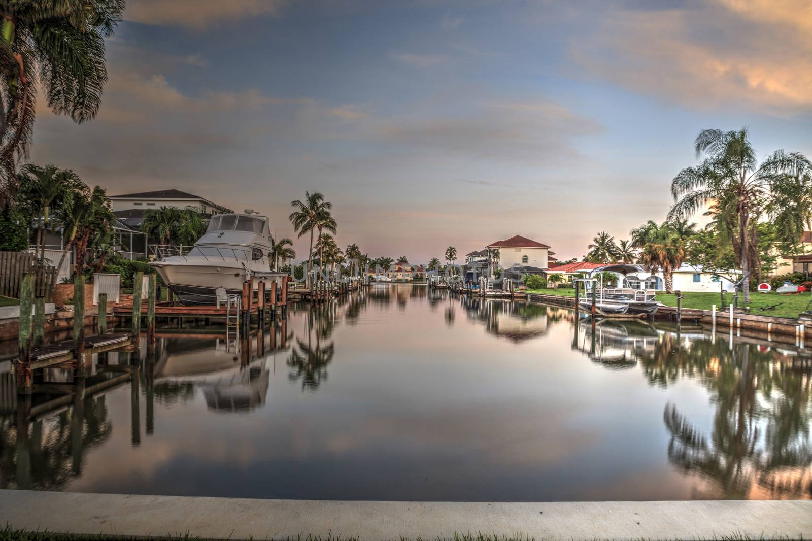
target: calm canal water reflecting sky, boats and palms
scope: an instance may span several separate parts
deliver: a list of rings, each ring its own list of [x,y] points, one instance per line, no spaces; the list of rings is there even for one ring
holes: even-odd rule
[[[688,325],[593,329],[559,307],[378,285],[292,305],[250,340],[159,329],[154,359],[144,352],[134,382],[56,405],[35,396],[30,420],[6,396],[0,487],[324,500],[812,497],[812,352],[797,346]]]

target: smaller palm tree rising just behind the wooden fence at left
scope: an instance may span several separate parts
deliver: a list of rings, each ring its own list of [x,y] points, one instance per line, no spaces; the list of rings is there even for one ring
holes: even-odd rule
[[[24,167],[24,174],[20,175],[19,183],[25,200],[37,216],[37,250],[42,261],[45,259],[45,227],[50,224],[51,210],[62,205],[71,193],[89,193],[89,188],[75,172],[59,169],[52,164],[41,167],[28,163]]]

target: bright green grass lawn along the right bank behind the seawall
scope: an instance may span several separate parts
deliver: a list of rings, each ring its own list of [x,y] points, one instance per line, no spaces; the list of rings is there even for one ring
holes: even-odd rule
[[[559,296],[575,296],[574,289],[533,289],[528,290],[530,293],[540,293],[542,295],[559,295]],[[689,293],[682,294],[685,298],[682,300],[683,308],[698,308],[709,310],[712,305],[716,308],[721,307],[721,298],[719,293]],[[668,293],[660,293],[657,300],[666,306],[676,306],[676,296]],[[801,295],[781,295],[780,293],[750,293],[750,314],[768,315],[781,318],[797,318],[806,310],[806,305],[812,301],[812,294],[809,292]],[[733,294],[724,294],[724,305],[730,305],[733,302]],[[741,296],[739,296],[739,304],[742,304]],[[767,306],[775,305],[775,309],[764,309]]]

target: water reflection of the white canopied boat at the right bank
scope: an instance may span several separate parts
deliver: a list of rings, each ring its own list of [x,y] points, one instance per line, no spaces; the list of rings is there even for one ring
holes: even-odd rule
[[[594,329],[588,321],[576,325],[576,331],[581,331],[583,338],[575,347],[587,353],[593,361],[609,367],[635,366],[642,355],[654,354],[654,344],[659,340],[657,329],[644,322],[602,319],[595,323]]]

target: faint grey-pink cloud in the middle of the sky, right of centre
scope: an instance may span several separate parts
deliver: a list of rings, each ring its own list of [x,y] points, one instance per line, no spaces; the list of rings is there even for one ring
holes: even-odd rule
[[[539,99],[477,103],[465,115],[388,120],[376,131],[382,141],[435,153],[538,163],[577,156],[572,138],[603,128],[558,103]]]

